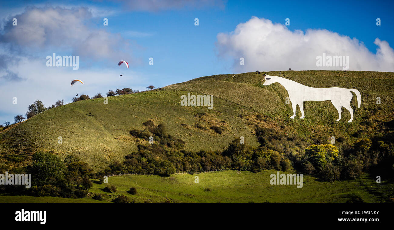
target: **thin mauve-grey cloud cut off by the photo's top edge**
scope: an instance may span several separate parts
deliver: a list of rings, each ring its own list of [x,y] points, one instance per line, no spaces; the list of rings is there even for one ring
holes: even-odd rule
[[[162,11],[184,7],[219,7],[223,9],[227,0],[117,0],[132,11]]]

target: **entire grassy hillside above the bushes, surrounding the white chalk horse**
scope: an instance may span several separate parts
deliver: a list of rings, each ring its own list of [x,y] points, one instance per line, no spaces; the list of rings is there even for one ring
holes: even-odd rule
[[[279,71],[267,74],[279,76]],[[257,146],[256,126],[282,130],[305,140],[329,140],[335,136],[353,143],[379,132],[384,122],[394,118],[394,73],[282,71],[280,76],[312,87],[359,89],[361,108],[353,99],[353,108],[357,108],[355,120],[348,123],[349,112],[343,110],[342,120],[335,122],[338,114],[331,102],[305,102],[305,119],[289,119],[292,112],[291,105],[285,104],[285,89],[277,83],[261,85],[261,74],[206,76],[169,85],[164,90],[112,96],[108,104],[98,98],[49,109],[0,132],[0,153],[7,156],[20,148],[33,148],[54,151],[62,158],[76,154],[94,169],[100,169],[136,151],[138,143],[129,131],[141,129],[149,119],[155,124],[164,122],[169,134],[186,141],[187,150],[197,151],[224,149],[240,136],[249,145]],[[188,92],[214,95],[214,109],[180,106],[180,96]],[[381,98],[379,105],[377,97]],[[199,129],[196,123],[208,129]],[[210,130],[212,125],[221,126],[224,132]],[[58,144],[58,137],[62,137],[62,144]],[[8,158],[2,160],[6,162]]]

